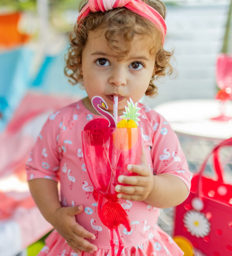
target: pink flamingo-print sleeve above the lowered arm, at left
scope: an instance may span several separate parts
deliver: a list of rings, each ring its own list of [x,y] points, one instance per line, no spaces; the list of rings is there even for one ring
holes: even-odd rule
[[[61,122],[60,112],[57,111],[44,124],[26,163],[27,180],[45,178],[58,182],[60,154],[57,141]]]

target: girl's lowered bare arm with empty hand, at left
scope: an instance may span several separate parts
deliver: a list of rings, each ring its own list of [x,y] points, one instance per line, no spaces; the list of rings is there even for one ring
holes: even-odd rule
[[[83,206],[61,207],[57,182],[50,179],[29,181],[31,195],[44,218],[67,241],[76,253],[93,252],[97,247],[84,238],[95,239],[95,235],[76,222],[75,215],[83,211]]]

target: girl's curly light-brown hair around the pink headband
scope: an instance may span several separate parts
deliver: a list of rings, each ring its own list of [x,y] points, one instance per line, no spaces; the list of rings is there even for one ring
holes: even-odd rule
[[[153,7],[165,18],[165,5],[160,0],[143,0],[143,2]],[[87,1],[84,0],[80,10],[86,3]],[[88,32],[95,31],[96,29],[104,31],[109,47],[114,50],[117,54],[116,56],[120,59],[128,55],[130,42],[133,40],[134,35],[149,35],[153,39],[150,54],[155,57],[155,73],[151,77],[145,94],[155,96],[157,94],[157,87],[154,81],[159,77],[172,73],[169,59],[173,52],[164,50],[161,32],[155,24],[125,7],[105,12],[90,12],[86,17],[74,24],[74,31],[69,33],[70,48],[68,49],[66,67],[64,69],[64,73],[69,77],[70,83],[74,85],[83,81],[80,71],[81,56],[87,42]],[[118,36],[124,39],[125,43],[123,45],[120,44],[119,46]]]

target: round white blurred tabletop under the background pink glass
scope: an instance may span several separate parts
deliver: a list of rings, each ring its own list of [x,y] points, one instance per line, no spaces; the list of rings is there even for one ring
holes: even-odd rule
[[[232,137],[232,120],[214,121],[220,115],[219,100],[179,100],[155,107],[173,130],[182,135],[225,139]],[[225,115],[232,118],[232,103],[226,102]]]

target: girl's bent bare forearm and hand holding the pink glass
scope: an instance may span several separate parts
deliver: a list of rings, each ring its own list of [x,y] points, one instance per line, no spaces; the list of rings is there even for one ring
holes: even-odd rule
[[[174,175],[161,173],[153,175],[147,166],[145,152],[141,156],[141,165],[128,165],[130,171],[138,176],[119,176],[118,182],[131,186],[117,185],[115,190],[119,198],[132,201],[145,201],[156,208],[169,208],[181,204],[188,195],[185,183]]]

